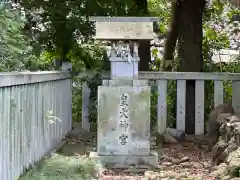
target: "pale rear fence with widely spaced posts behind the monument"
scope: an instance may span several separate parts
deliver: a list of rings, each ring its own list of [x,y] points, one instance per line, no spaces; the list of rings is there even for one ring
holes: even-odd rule
[[[79,77],[93,77],[94,72],[79,74]],[[109,79],[109,73],[103,73],[102,79]],[[163,133],[167,126],[167,87],[169,80],[177,81],[177,112],[176,126],[178,130],[185,131],[186,113],[186,80],[195,80],[195,134],[204,134],[204,90],[205,81],[214,81],[214,106],[224,102],[224,81],[232,81],[232,104],[237,113],[240,113],[240,73],[203,73],[203,72],[139,72],[140,80],[155,80],[158,91],[158,132]],[[84,86],[83,95],[89,94],[90,89]],[[89,97],[85,97],[89,98]],[[83,113],[88,115],[88,101],[83,101]],[[88,118],[85,116],[83,128]],[[88,126],[89,127],[89,126]]]

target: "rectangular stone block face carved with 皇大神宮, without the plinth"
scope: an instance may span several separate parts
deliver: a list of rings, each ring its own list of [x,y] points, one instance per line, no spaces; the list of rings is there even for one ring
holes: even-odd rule
[[[128,96],[128,120],[120,119],[120,96]],[[126,122],[126,129],[120,126]],[[126,130],[126,132],[125,132]],[[121,144],[121,135],[126,144]],[[98,147],[99,155],[149,155],[150,87],[99,86]]]

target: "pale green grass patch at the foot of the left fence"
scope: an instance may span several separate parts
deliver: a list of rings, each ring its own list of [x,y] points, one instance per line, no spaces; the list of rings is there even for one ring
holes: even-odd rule
[[[101,169],[100,163],[86,156],[53,154],[28,170],[19,180],[95,180]]]

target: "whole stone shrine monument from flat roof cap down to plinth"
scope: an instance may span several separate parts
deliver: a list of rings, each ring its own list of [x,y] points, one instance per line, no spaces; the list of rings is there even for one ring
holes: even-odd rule
[[[138,80],[138,40],[155,38],[150,17],[91,17],[96,39],[112,42],[111,79],[98,87],[97,152],[90,157],[111,168],[154,167],[150,151],[150,95],[146,80]]]

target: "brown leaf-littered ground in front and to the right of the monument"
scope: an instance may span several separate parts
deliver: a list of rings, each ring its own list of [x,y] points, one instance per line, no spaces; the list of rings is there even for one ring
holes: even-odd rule
[[[101,180],[167,180],[167,179],[199,179],[214,180],[209,174],[213,166],[210,154],[204,154],[205,148],[196,148],[194,143],[169,145],[163,148],[164,156],[155,170],[143,173],[124,173],[123,171],[105,170]],[[134,170],[134,168],[133,168]]]

